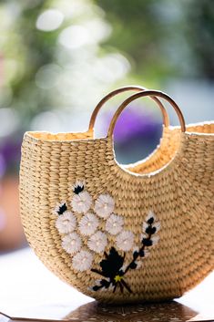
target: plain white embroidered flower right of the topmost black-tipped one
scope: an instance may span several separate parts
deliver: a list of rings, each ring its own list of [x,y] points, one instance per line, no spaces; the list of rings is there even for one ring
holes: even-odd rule
[[[115,207],[114,199],[109,194],[100,194],[95,203],[95,212],[101,218],[107,218]]]

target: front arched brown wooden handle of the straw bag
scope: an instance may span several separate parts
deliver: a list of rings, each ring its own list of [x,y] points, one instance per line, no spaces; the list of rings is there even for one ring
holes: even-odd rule
[[[130,96],[119,106],[114,117],[112,118],[112,120],[110,122],[108,131],[107,131],[108,137],[112,137],[116,123],[117,123],[117,119],[120,116],[120,114],[122,113],[122,111],[127,107],[127,105],[129,103],[131,103],[133,100],[139,99],[142,97],[153,97],[153,98],[158,97],[158,98],[166,99],[168,101],[168,103],[173,107],[173,109],[175,109],[175,111],[178,115],[181,131],[182,132],[186,131],[185,119],[183,117],[181,110],[178,108],[177,103],[173,99],[171,99],[166,93],[163,93],[159,90],[145,90],[145,91],[141,91],[137,94]]]

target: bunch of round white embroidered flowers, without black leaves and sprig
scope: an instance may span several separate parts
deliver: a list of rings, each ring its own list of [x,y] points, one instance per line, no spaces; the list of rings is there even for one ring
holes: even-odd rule
[[[56,229],[62,234],[62,247],[67,254],[73,255],[72,265],[76,270],[89,269],[93,253],[104,253],[108,234],[115,236],[118,249],[125,252],[132,249],[134,234],[123,229],[124,220],[114,213],[115,202],[109,194],[100,194],[93,203],[85,182],[81,181],[73,186],[73,192],[70,203],[73,212],[67,210],[66,202],[62,202],[56,205],[54,213],[57,215]],[[79,221],[76,214],[81,214]],[[105,222],[105,229],[99,230],[100,222]],[[81,236],[84,240],[87,238],[87,246]]]

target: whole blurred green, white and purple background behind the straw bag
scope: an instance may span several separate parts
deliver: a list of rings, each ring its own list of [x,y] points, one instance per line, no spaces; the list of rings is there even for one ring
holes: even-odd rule
[[[210,0],[5,0],[0,16],[2,250],[24,243],[17,173],[25,130],[86,130],[97,102],[127,84],[167,91],[187,122],[214,119]],[[107,104],[97,135],[106,135],[124,98]],[[126,113],[116,129],[117,160],[138,161],[157,145],[161,117],[147,100]]]

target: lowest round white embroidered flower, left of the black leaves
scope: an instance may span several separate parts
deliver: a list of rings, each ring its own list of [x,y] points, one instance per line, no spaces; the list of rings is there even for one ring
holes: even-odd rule
[[[93,261],[93,254],[81,250],[77,253],[72,259],[72,265],[76,269],[76,271],[87,271],[87,269],[91,268]]]

